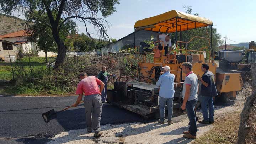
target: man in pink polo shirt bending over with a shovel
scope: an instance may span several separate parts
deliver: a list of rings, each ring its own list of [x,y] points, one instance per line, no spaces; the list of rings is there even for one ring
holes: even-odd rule
[[[81,81],[76,89],[76,94],[79,94],[79,96],[73,107],[78,105],[82,100],[83,93],[85,93],[84,107],[87,131],[91,133],[93,129],[94,137],[100,137],[102,135],[100,129],[102,100],[100,95],[104,88],[104,83],[95,76],[87,76],[86,73],[80,73],[79,78]],[[100,89],[98,86],[100,86]]]

